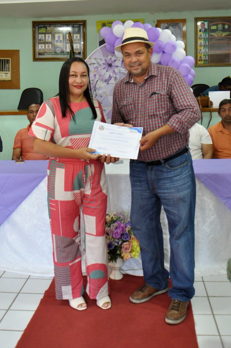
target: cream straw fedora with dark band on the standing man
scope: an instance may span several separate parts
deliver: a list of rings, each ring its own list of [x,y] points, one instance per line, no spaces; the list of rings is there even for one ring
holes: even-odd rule
[[[122,44],[115,47],[115,50],[121,52],[121,47],[126,44],[131,44],[132,42],[144,42],[149,44],[151,47],[154,42],[149,41],[148,34],[144,29],[141,28],[127,28],[124,31],[124,36]]]

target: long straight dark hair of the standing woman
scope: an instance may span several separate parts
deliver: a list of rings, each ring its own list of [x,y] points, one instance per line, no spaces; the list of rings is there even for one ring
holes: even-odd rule
[[[72,118],[75,120],[74,112],[72,111],[71,106],[70,106],[71,101],[70,101],[70,90],[69,90],[69,73],[70,73],[71,64],[73,62],[83,63],[87,68],[88,86],[85,89],[85,91],[83,92],[83,95],[86,97],[87,102],[88,102],[88,104],[91,108],[91,111],[93,113],[92,118],[96,119],[97,113],[95,110],[95,106],[93,104],[91,88],[90,88],[89,66],[80,57],[72,57],[72,58],[67,59],[65,61],[65,63],[63,64],[61,71],[60,71],[60,74],[59,74],[59,82],[58,82],[59,93],[58,93],[58,96],[59,96],[59,101],[60,101],[60,105],[61,105],[62,117],[66,117],[67,114],[69,113],[72,116]]]

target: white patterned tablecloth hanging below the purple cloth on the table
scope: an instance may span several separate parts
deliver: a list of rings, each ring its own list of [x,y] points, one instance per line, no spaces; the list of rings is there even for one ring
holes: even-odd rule
[[[107,212],[130,212],[128,160],[106,166]],[[195,219],[195,276],[226,273],[231,257],[231,211],[198,179]],[[47,179],[44,179],[0,226],[0,269],[22,274],[53,276],[52,245],[47,212]],[[169,263],[168,229],[161,213],[164,231],[165,264]],[[84,266],[83,266],[84,267]],[[141,260],[127,260],[122,268],[142,275]]]

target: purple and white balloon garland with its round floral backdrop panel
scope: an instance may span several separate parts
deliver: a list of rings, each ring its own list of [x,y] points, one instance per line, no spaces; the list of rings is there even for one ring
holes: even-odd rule
[[[86,59],[90,67],[90,81],[93,95],[101,102],[107,122],[111,121],[112,94],[114,85],[127,73],[122,61],[122,53],[115,51],[115,47],[122,43],[124,30],[130,27],[144,29],[149,41],[154,42],[152,63],[172,66],[177,69],[189,86],[193,84],[196,75],[192,66],[195,60],[186,56],[184,42],[176,40],[176,37],[168,29],[152,27],[151,24],[141,22],[115,21],[110,27],[103,27],[100,31],[106,44],[97,48]]]

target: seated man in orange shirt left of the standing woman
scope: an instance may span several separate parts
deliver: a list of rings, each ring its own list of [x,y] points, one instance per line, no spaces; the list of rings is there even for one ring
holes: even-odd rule
[[[40,104],[32,104],[28,108],[27,112],[27,119],[29,120],[30,124],[26,128],[20,129],[14,140],[14,146],[13,146],[13,155],[12,159],[42,159],[46,160],[49,159],[47,156],[40,155],[40,153],[34,152],[33,147],[33,138],[28,135],[29,129],[37,116],[37,113],[39,112]]]

